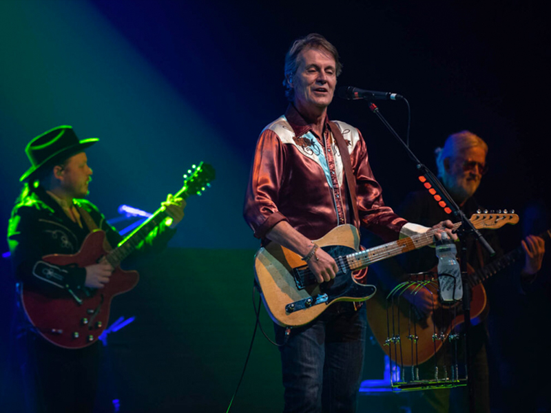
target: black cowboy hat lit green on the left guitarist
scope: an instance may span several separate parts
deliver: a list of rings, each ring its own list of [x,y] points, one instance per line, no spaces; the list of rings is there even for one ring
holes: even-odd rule
[[[29,178],[39,169],[63,162],[90,145],[94,145],[98,140],[98,138],[79,140],[72,126],[67,125],[54,127],[54,129],[44,132],[31,140],[25,148],[32,166],[23,173],[19,181]]]

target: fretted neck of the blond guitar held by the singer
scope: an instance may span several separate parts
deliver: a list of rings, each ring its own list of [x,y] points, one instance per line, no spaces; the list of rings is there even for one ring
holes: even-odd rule
[[[461,222],[453,224],[453,230],[458,229],[459,226],[461,226]],[[352,271],[361,270],[377,261],[386,260],[386,258],[395,257],[395,255],[433,244],[435,233],[437,233],[436,229],[429,229],[426,233],[402,238],[402,240],[388,242],[388,244],[346,255],[345,259]]]

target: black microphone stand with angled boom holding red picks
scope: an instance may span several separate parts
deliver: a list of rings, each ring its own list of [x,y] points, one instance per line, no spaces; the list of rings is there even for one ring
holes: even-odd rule
[[[368,100],[368,99],[366,99]],[[406,98],[404,98],[406,100]],[[406,103],[409,105],[408,101],[406,100]],[[465,319],[465,342],[466,342],[466,364],[467,364],[467,388],[468,388],[468,398],[469,398],[469,412],[474,413],[475,412],[475,397],[474,397],[474,387],[472,379],[469,378],[469,370],[471,368],[471,351],[470,351],[470,330],[472,327],[472,324],[470,322],[470,286],[468,284],[468,277],[467,277],[467,247],[466,247],[466,237],[468,235],[475,235],[476,240],[486,248],[486,251],[490,253],[490,255],[495,255],[495,251],[493,248],[488,244],[486,239],[482,236],[482,234],[475,229],[474,226],[472,226],[472,223],[466,215],[459,209],[455,201],[451,198],[450,194],[444,186],[441,184],[441,182],[436,178],[436,176],[428,169],[425,165],[423,165],[419,159],[415,156],[413,151],[406,145],[404,140],[400,138],[400,136],[397,134],[397,132],[393,129],[390,123],[384,118],[384,116],[381,114],[379,108],[377,105],[375,105],[373,102],[368,100],[369,109],[371,109],[371,112],[373,112],[375,115],[377,115],[377,118],[381,120],[381,122],[386,126],[386,129],[391,132],[391,134],[402,144],[404,149],[406,149],[406,152],[408,153],[408,156],[410,157],[413,162],[415,162],[417,171],[419,173],[422,173],[423,176],[426,178],[426,180],[433,186],[433,188],[437,191],[438,195],[441,196],[441,198],[448,204],[448,207],[452,210],[453,215],[455,215],[456,218],[459,218],[461,220],[461,226],[459,226],[459,229],[457,230],[457,236],[459,237],[459,240],[463,241],[461,242],[461,254],[460,254],[460,268],[461,268],[461,282],[463,284],[463,312],[464,312],[464,319]]]

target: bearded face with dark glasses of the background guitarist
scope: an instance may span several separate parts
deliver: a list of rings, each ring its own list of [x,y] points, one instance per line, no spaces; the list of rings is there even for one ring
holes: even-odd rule
[[[470,147],[444,160],[444,186],[459,204],[463,204],[478,189],[486,166],[486,152]]]

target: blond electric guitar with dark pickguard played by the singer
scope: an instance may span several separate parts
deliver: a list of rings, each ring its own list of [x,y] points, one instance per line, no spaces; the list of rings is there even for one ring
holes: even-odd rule
[[[475,214],[470,221],[477,229],[499,228],[517,223],[515,214]],[[459,228],[460,222],[453,229]],[[353,276],[374,262],[433,244],[437,230],[359,251],[360,236],[352,225],[340,225],[315,240],[337,263],[339,271],[330,282],[318,284],[300,255],[271,242],[255,255],[256,282],[271,319],[280,326],[297,327],[313,321],[337,301],[365,301],[377,288],[360,284]]]

